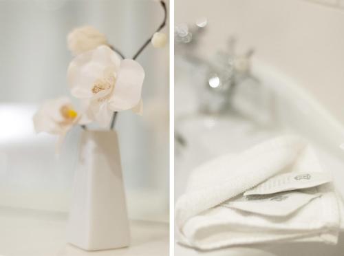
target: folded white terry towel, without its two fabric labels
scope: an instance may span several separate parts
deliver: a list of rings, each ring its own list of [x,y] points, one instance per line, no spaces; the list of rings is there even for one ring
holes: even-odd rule
[[[304,171],[323,172],[310,146],[295,136],[275,138],[198,167],[175,206],[179,242],[200,250],[262,242],[336,244],[342,211],[332,183],[317,186],[321,196],[283,217],[222,205],[275,175]]]

